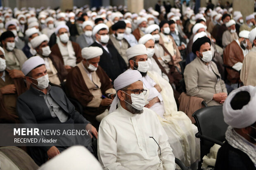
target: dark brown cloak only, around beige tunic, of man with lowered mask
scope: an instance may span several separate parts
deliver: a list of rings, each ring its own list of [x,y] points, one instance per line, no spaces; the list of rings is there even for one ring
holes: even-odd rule
[[[101,84],[100,85],[101,93],[102,95],[107,96],[106,91],[113,88],[113,85],[111,84],[107,74],[104,72],[104,70],[100,66],[98,66],[96,74],[100,79],[99,83]],[[71,69],[66,80],[67,96],[73,99],[77,99],[83,105],[83,116],[88,121],[90,121],[92,125],[95,126],[95,128],[98,128],[100,125],[100,122],[97,122],[96,116],[103,113],[108,108],[108,106],[95,106],[95,107],[87,106],[90,103],[90,101],[92,101],[92,99],[94,99],[95,97],[91,94],[90,92],[91,89],[89,90],[88,86],[86,85],[87,82],[89,83],[91,82],[90,79],[88,78],[88,81],[85,83],[84,77],[88,78],[88,75],[86,74],[83,76],[79,66],[76,66],[73,69]],[[98,88],[95,87],[95,90],[97,89]],[[99,101],[101,100],[101,98],[96,100]]]

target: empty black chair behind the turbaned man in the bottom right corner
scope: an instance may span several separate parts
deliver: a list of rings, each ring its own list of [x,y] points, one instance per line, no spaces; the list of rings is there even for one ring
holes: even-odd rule
[[[198,133],[196,137],[200,138],[200,162],[198,169],[201,169],[204,155],[210,152],[214,143],[223,145],[225,141],[225,132],[228,124],[224,122],[223,106],[209,106],[201,108],[193,113],[193,117],[197,123]]]

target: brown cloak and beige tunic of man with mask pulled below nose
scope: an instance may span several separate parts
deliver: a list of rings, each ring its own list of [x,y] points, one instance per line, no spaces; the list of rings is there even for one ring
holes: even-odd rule
[[[116,91],[100,66],[97,71],[91,73],[91,76],[92,80],[80,62],[67,76],[66,91],[69,97],[77,99],[83,105],[83,116],[98,129],[100,122],[97,122],[96,116],[108,108],[100,105],[102,95],[115,94]]]

